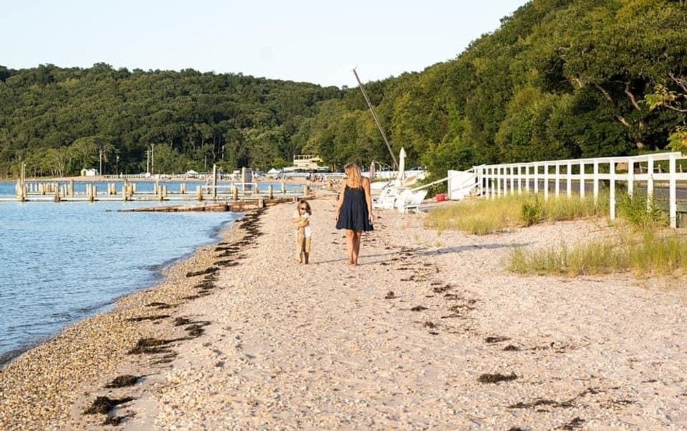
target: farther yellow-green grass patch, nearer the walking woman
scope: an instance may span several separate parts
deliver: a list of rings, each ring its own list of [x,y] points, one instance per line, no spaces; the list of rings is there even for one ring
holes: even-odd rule
[[[511,195],[497,199],[475,199],[452,203],[431,210],[425,227],[442,230],[462,230],[486,235],[529,226],[543,220],[574,220],[608,214],[608,199],[600,197],[550,197],[543,195]]]

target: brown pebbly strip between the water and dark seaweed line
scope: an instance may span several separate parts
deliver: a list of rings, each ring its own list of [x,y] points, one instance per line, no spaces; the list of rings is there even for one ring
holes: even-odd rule
[[[88,393],[93,382],[120,366],[150,365],[141,353],[150,349],[168,351],[161,362],[171,360],[171,349],[146,346],[157,336],[180,332],[174,346],[202,333],[202,324],[191,329],[170,317],[174,308],[210,294],[220,267],[236,263],[234,258],[218,260],[216,248],[229,247],[238,253],[262,210],[218,227],[214,241],[174,259],[161,269],[161,280],[152,287],[134,291],[115,301],[113,309],[69,325],[57,335],[30,347],[0,368],[0,429],[67,429],[86,426],[74,422],[78,394]],[[241,245],[235,245],[240,243]],[[197,274],[196,273],[203,273]],[[167,320],[167,322],[164,322]],[[183,322],[183,321],[181,321]],[[177,327],[188,329],[177,331]],[[164,328],[164,329],[163,329]],[[138,350],[137,350],[138,349]],[[169,349],[169,350],[168,350]],[[93,424],[91,424],[92,426]]]

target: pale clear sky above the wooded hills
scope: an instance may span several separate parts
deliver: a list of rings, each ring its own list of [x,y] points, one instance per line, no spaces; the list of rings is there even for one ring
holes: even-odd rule
[[[196,69],[356,85],[455,58],[526,0],[5,0],[0,65]]]

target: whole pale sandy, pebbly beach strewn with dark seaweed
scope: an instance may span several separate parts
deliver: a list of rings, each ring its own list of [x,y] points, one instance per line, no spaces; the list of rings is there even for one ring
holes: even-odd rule
[[[311,204],[311,265],[295,263],[293,204],[247,215],[0,371],[0,428],[687,427],[684,278],[505,269],[515,245],[605,221],[471,236],[385,210],[351,267],[333,197]]]

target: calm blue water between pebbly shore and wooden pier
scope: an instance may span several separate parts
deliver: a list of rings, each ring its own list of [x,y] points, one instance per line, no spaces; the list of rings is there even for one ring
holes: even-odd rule
[[[14,184],[0,183],[0,195],[14,195]],[[0,365],[155,284],[165,265],[211,243],[240,217],[117,212],[150,205],[0,202]]]

